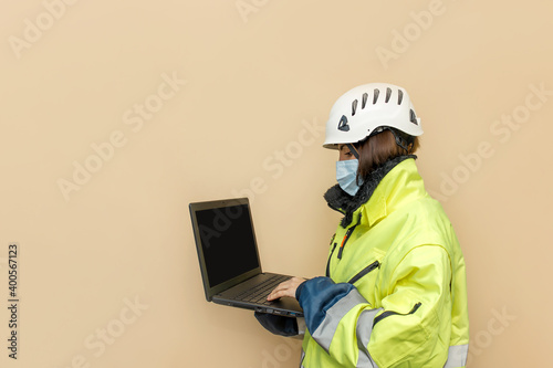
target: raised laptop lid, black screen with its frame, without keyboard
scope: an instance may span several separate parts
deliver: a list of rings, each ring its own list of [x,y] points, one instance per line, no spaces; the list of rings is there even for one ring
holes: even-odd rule
[[[261,273],[248,198],[189,204],[206,298]]]

